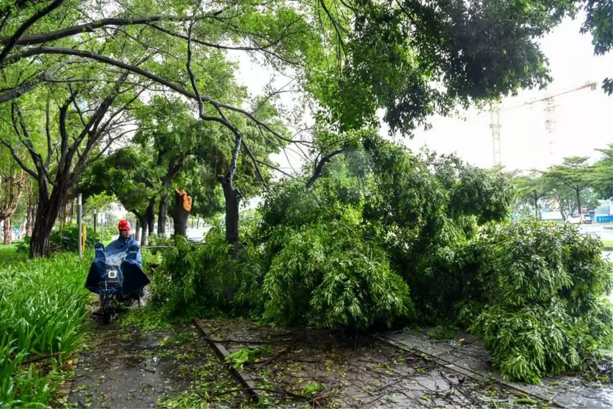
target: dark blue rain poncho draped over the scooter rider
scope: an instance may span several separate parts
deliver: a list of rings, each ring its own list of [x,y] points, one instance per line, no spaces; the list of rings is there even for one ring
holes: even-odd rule
[[[104,248],[102,243],[96,245],[96,258],[89,268],[85,288],[100,294],[101,283],[118,285],[121,294],[127,296],[141,291],[149,283],[143,273],[143,259],[139,243],[132,237],[118,237]]]

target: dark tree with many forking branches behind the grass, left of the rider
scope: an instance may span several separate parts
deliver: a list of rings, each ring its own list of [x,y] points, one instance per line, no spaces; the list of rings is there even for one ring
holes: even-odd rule
[[[29,110],[21,107],[25,101],[0,105],[0,115],[10,118],[13,131],[12,139],[2,136],[0,143],[38,186],[31,257],[48,256],[51,229],[78,177],[99,153],[125,133],[123,126],[129,123],[126,109],[138,96],[132,92],[134,86],[125,85],[127,77],[120,73],[115,84],[99,91],[81,89],[80,94],[72,87],[64,89],[64,93],[60,89],[54,94],[50,91],[41,95],[42,107],[40,102],[28,101]],[[104,147],[96,153],[103,140]],[[28,151],[34,166],[21,160],[14,148],[20,145]]]

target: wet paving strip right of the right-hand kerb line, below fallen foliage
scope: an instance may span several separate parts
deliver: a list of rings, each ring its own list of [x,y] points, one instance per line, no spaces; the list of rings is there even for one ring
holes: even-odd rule
[[[442,367],[462,373],[471,380],[494,380],[509,389],[523,392],[534,399],[549,401],[559,407],[613,407],[613,385],[607,377],[603,377],[603,381],[593,381],[586,380],[582,375],[565,375],[544,378],[540,385],[505,381],[490,366],[487,351],[470,334],[460,334],[454,340],[438,341],[428,338],[429,331],[386,332],[379,338],[405,350],[424,354]]]

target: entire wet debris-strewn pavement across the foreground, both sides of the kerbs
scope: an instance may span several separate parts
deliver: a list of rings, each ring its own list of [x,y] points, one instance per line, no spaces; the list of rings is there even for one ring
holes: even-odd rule
[[[613,388],[582,375],[535,386],[502,380],[478,340],[421,332],[370,337],[201,320],[232,354],[222,361],[194,326],[93,326],[68,402],[78,408],[611,408]],[[461,341],[460,341],[461,340]],[[258,401],[230,371],[240,368]],[[606,373],[603,372],[604,375]]]

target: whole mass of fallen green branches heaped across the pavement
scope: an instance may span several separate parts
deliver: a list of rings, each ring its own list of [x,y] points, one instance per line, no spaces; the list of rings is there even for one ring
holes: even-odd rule
[[[203,245],[175,239],[154,305],[352,329],[457,325],[484,340],[503,377],[582,369],[613,339],[601,243],[505,221],[513,197],[500,172],[366,138],[313,188],[273,186],[242,225],[238,259],[219,228]]]

